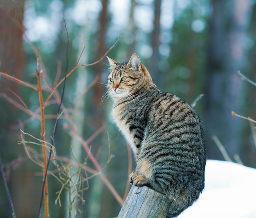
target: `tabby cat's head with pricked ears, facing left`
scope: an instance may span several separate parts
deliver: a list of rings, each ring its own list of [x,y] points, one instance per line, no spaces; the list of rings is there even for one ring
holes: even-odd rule
[[[111,70],[108,76],[108,91],[114,99],[133,99],[141,89],[153,84],[150,74],[136,53],[126,63],[116,62],[108,56],[107,58]]]

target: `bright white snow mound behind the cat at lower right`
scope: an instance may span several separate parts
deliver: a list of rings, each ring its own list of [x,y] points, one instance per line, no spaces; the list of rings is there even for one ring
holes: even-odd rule
[[[256,169],[207,160],[205,188],[177,218],[256,218]]]

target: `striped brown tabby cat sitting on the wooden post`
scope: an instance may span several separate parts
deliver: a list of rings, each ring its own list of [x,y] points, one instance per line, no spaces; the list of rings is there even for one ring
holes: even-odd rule
[[[137,162],[130,183],[168,196],[171,206],[167,217],[178,216],[204,189],[202,122],[185,101],[157,89],[136,53],[129,62],[107,58],[112,117]]]

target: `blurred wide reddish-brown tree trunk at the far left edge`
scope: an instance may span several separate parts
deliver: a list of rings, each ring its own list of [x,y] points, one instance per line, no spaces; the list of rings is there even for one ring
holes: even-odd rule
[[[23,78],[23,67],[25,64],[25,56],[22,49],[23,33],[20,29],[23,20],[24,4],[25,0],[0,1],[0,71],[20,79]],[[1,93],[14,96],[18,93],[19,87],[17,83],[0,77]],[[16,158],[22,151],[22,148],[17,148],[17,138],[14,137],[19,134],[19,129],[11,129],[11,126],[16,123],[19,115],[20,111],[0,96],[0,153],[4,163]],[[27,167],[27,165],[23,167]],[[30,181],[33,178],[32,174],[32,169],[27,169],[26,176]],[[20,190],[20,186],[16,183],[16,181],[20,180],[19,172],[14,173],[11,180],[10,178],[8,179],[15,209],[20,214],[27,214],[29,216],[32,208],[30,207],[28,211],[18,204],[17,201],[21,195],[24,197],[29,191],[29,186]],[[2,178],[0,180],[0,184],[2,184]],[[0,216],[8,217],[10,210],[2,185],[0,185],[0,196],[2,197],[2,200],[0,200]],[[24,203],[31,205],[31,199],[24,198]]]

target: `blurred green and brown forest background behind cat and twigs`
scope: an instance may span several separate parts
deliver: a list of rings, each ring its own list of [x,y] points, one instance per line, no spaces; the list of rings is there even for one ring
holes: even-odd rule
[[[88,64],[99,60],[123,34],[108,53],[110,58],[123,62],[137,53],[160,90],[189,103],[204,94],[195,109],[206,131],[208,159],[225,160],[212,139],[217,136],[232,161],[240,159],[244,165],[256,167],[255,128],[231,115],[235,111],[256,119],[256,87],[237,73],[241,71],[256,81],[255,0],[0,0],[0,71],[37,85],[35,49],[40,47],[41,69],[54,87],[64,77],[67,64],[63,18],[69,35],[67,72],[76,66],[83,44],[79,63]],[[111,99],[101,99],[106,92],[108,67],[106,57],[96,65],[77,67],[66,80],[63,105],[99,165],[108,163],[109,153],[114,156],[102,174],[125,198],[130,187],[130,149],[109,116]],[[47,82],[44,80],[43,86]],[[63,83],[57,91],[61,94],[62,89]],[[44,100],[48,95],[49,90],[43,92]],[[58,110],[54,97],[49,102],[45,108],[48,142]],[[20,129],[40,138],[40,121],[17,104],[40,115],[38,92],[1,75],[0,153],[5,176],[17,217],[37,217],[42,168],[27,158],[18,141]],[[72,128],[65,116],[59,119],[56,152],[72,159],[72,145],[74,156],[83,163],[87,153]],[[41,153],[40,146],[28,146]],[[90,159],[86,165],[95,170]],[[49,170],[54,169],[50,164]],[[68,217],[67,191],[60,196],[60,207],[55,200],[61,183],[53,176],[48,176],[48,183],[50,217]],[[83,211],[81,217],[117,216],[121,206],[105,182],[94,176],[88,185],[83,193],[85,203],[78,203],[73,213],[78,207]],[[0,179],[0,217],[10,216]]]

